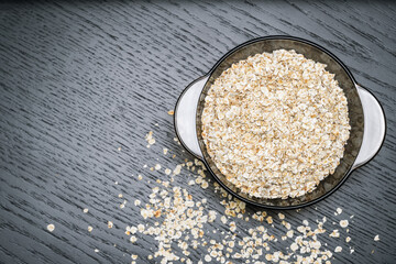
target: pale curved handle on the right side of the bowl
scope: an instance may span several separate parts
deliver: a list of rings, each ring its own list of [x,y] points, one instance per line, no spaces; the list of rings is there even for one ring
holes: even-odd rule
[[[358,84],[355,86],[363,107],[364,132],[362,146],[352,169],[366,164],[377,154],[386,131],[385,113],[378,100],[367,89]]]

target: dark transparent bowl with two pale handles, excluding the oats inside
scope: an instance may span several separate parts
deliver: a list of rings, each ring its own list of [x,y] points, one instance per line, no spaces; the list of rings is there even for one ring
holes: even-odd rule
[[[349,107],[351,124],[343,158],[333,174],[319,183],[317,188],[304,196],[287,199],[266,199],[242,193],[217,168],[207,152],[201,135],[201,113],[205,97],[213,81],[233,63],[258,53],[276,50],[295,50],[306,58],[327,65],[336,74]],[[359,166],[367,163],[380,151],[386,131],[384,111],[376,98],[359,86],[346,66],[326,48],[312,42],[293,36],[265,36],[245,42],[221,57],[209,73],[193,81],[180,95],[175,108],[175,130],[182,144],[201,160],[213,178],[231,195],[255,206],[273,209],[295,209],[312,205],[338,189]]]

